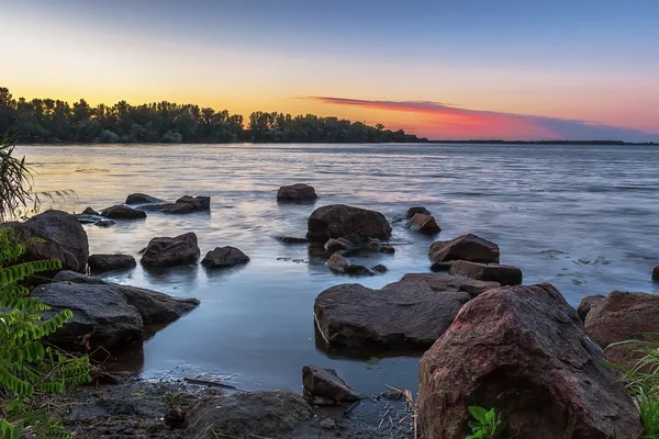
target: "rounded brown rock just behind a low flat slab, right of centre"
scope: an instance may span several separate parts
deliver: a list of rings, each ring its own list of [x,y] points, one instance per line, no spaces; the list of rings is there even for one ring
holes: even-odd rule
[[[433,243],[428,255],[435,262],[466,260],[499,263],[499,246],[471,234]]]

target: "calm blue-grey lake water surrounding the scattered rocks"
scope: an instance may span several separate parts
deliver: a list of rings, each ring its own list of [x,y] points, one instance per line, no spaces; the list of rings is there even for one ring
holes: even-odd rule
[[[316,348],[313,301],[328,286],[358,281],[380,288],[407,272],[428,271],[431,238],[393,226],[393,256],[368,266],[373,278],[335,275],[306,246],[276,235],[304,236],[314,205],[278,205],[282,184],[313,184],[323,204],[375,209],[391,218],[425,205],[443,232],[476,233],[498,243],[502,262],[518,266],[525,283],[554,283],[568,302],[624,291],[656,291],[659,263],[659,148],[581,146],[24,146],[46,206],[80,212],[121,203],[132,192],[176,200],[212,196],[211,213],[150,214],[108,229],[85,226],[91,252],[137,251],[154,236],[194,232],[202,256],[232,245],[247,266],[206,272],[183,267],[166,274],[136,268],[113,281],[179,296],[201,306],[145,342],[134,365],[147,378],[232,375],[242,389],[299,391],[306,363],[332,367],[358,390],[384,384],[415,389],[418,359],[346,359]],[[302,260],[302,261],[293,261]]]

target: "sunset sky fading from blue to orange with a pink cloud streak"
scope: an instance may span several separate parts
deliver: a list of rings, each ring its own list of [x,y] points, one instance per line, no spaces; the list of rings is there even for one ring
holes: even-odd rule
[[[2,0],[1,15],[14,98],[659,142],[657,0]]]

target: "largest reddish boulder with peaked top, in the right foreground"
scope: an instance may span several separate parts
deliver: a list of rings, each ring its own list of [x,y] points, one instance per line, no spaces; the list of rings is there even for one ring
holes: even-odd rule
[[[463,438],[468,406],[495,407],[515,438],[638,437],[638,410],[550,284],[469,302],[420,365],[424,438]]]

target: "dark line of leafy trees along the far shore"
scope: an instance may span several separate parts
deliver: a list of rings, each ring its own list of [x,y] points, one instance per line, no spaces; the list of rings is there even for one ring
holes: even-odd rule
[[[167,101],[91,106],[54,99],[14,99],[0,88],[0,134],[24,143],[412,143],[426,138],[403,130],[313,114],[256,111],[247,121],[215,111]]]

